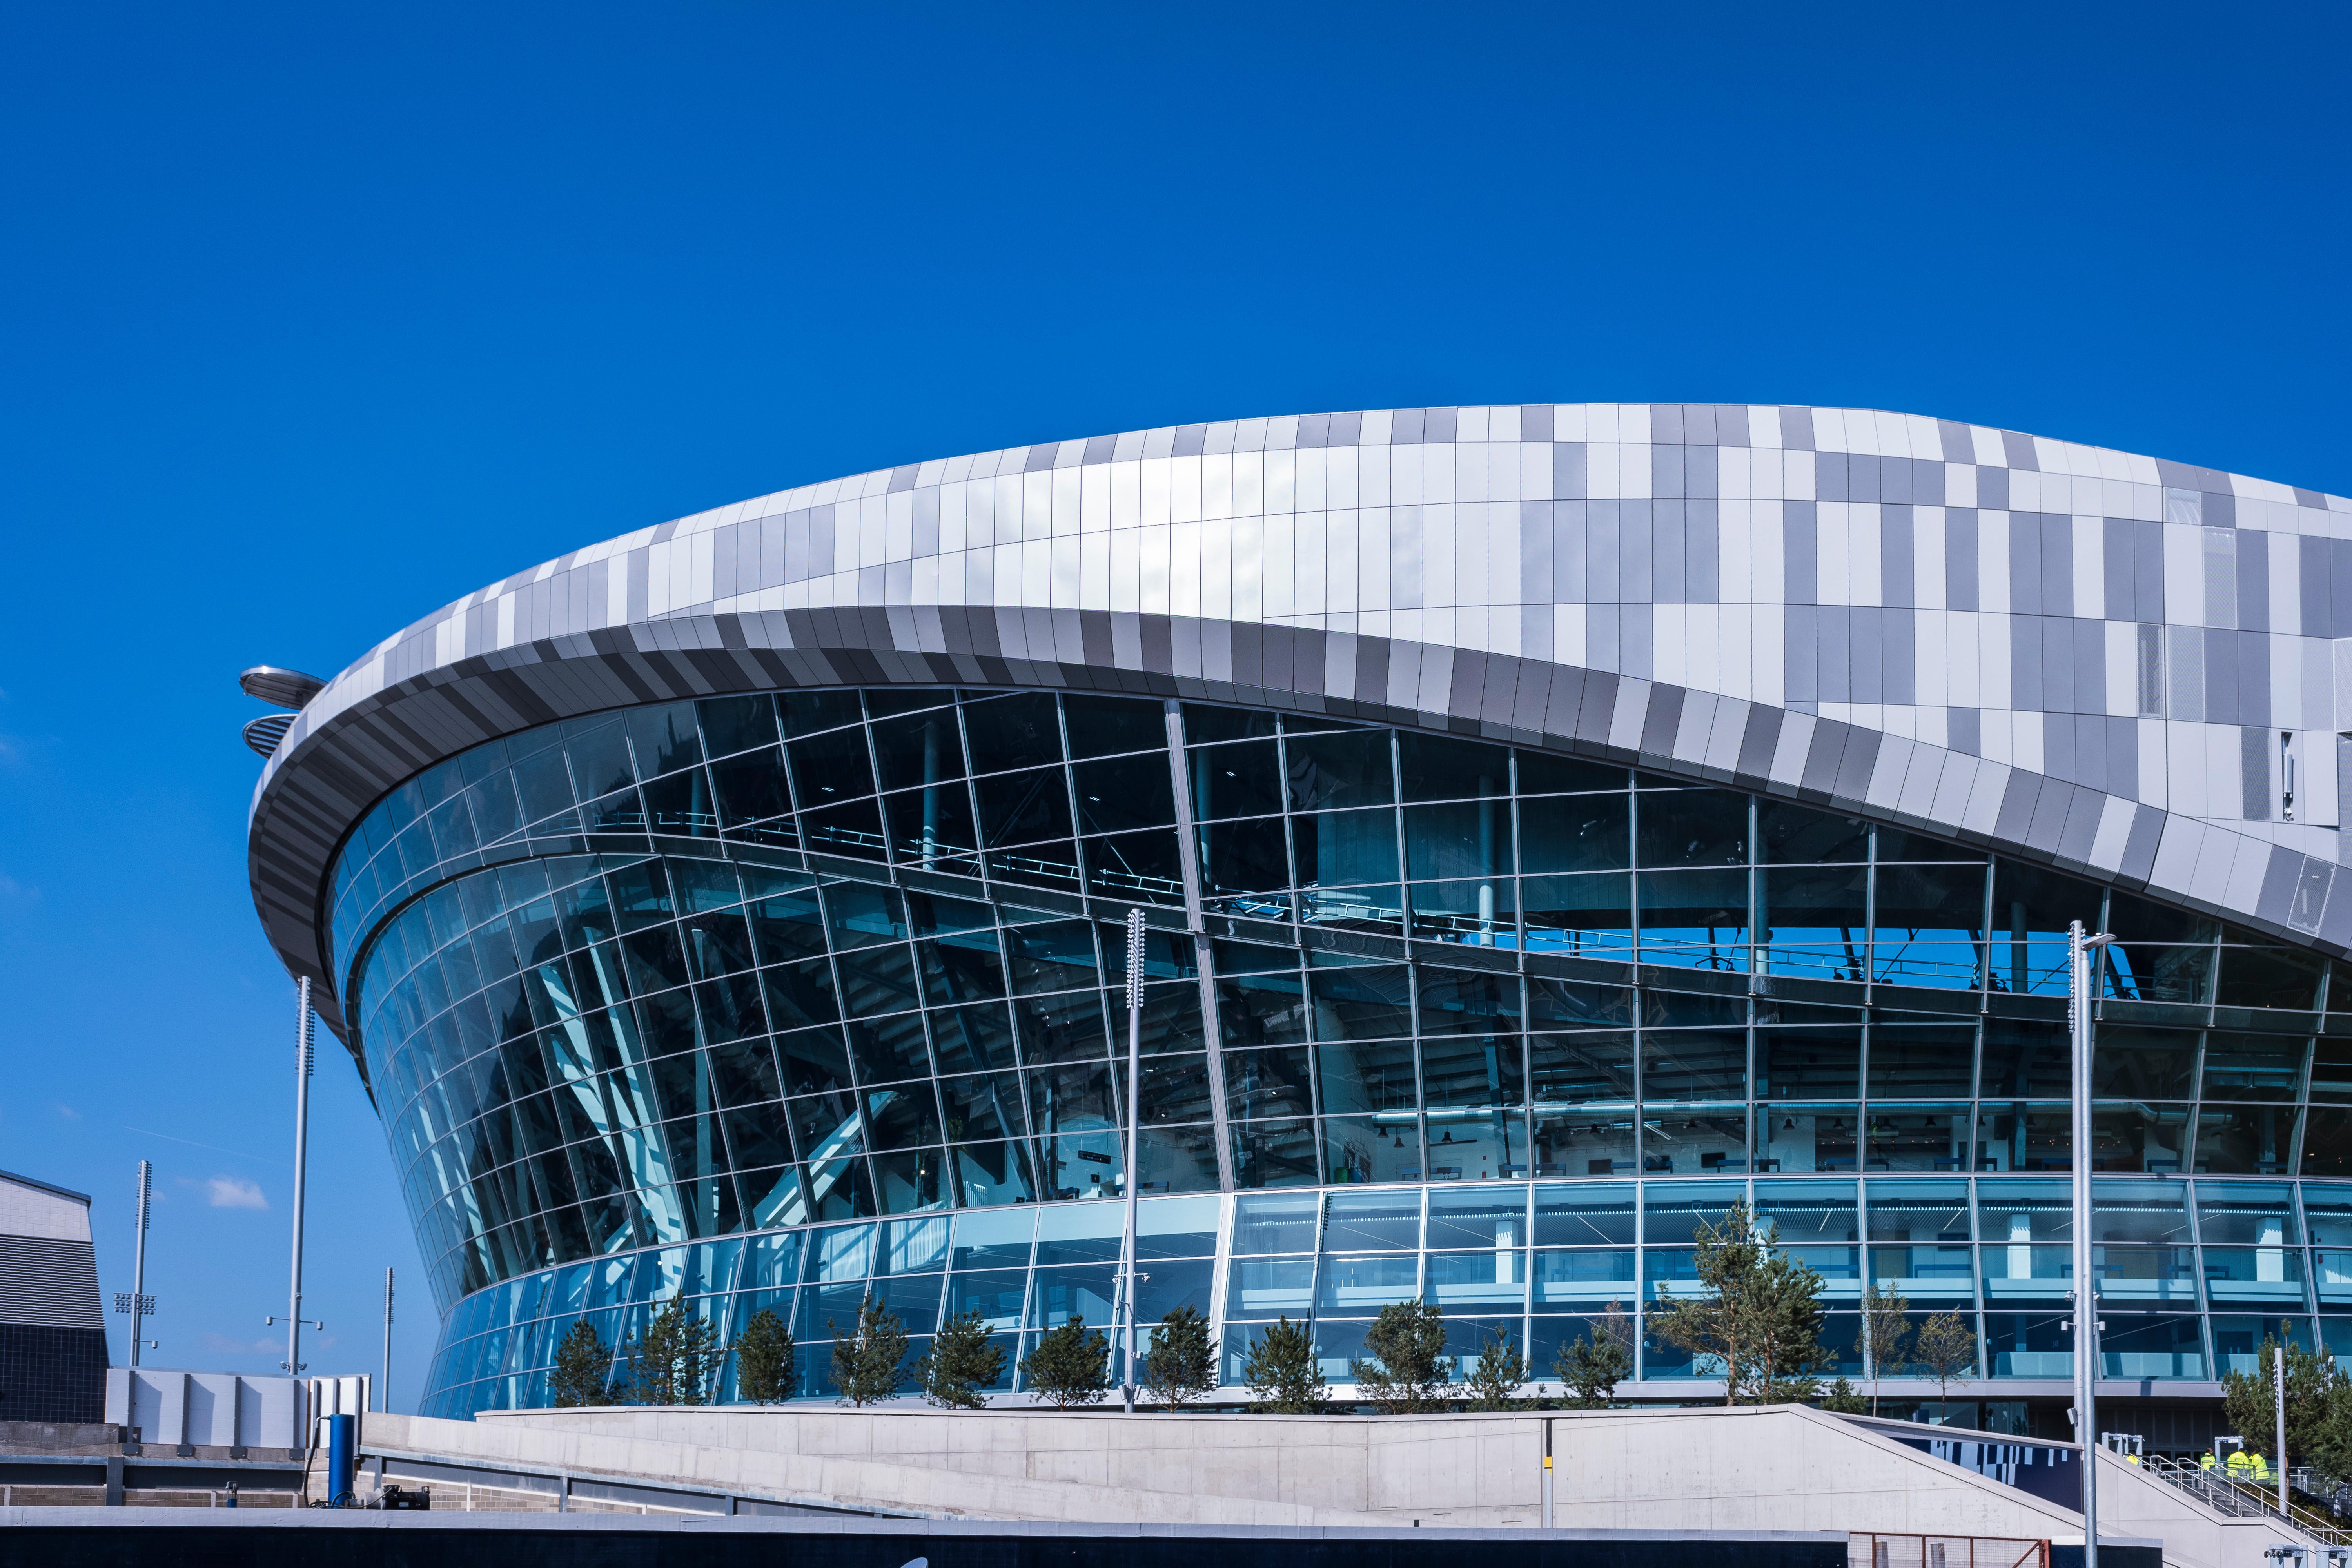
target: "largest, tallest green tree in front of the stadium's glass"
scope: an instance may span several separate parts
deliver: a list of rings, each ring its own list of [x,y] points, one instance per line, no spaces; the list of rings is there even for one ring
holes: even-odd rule
[[[1658,1286],[1658,1338],[1717,1361],[1726,1406],[1811,1399],[1825,1361],[1820,1274],[1780,1251],[1778,1229],[1759,1234],[1745,1199],[1722,1225],[1700,1222],[1696,1265],[1705,1295]]]

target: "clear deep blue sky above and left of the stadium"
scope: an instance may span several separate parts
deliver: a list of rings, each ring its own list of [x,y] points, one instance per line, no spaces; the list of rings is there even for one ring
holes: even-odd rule
[[[273,1371],[252,663],[910,458],[1820,402],[2352,491],[2343,7],[14,7],[0,1168]],[[348,1063],[313,1366],[435,1319]],[[115,1349],[122,1347],[122,1319]]]

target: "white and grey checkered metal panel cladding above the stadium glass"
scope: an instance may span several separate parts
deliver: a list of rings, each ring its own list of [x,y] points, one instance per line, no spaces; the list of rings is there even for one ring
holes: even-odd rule
[[[2352,501],[2013,430],[1745,404],[1131,430],[779,491],[449,604],[296,719],[252,879],[332,987],[336,842],[475,741],[717,691],[1037,684],[1637,759],[2345,952],[2338,632]]]

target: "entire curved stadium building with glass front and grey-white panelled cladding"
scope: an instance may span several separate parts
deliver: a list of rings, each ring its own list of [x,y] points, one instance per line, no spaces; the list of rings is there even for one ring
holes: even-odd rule
[[[1526,404],[903,463],[586,545],[292,708],[249,856],[393,1143],[421,1408],[875,1293],[1538,1375],[1748,1197],[1978,1331],[1955,1420],[2201,1446],[2352,1363],[2352,501],[1870,409]],[[1124,947],[1148,922],[1141,1095]],[[2098,966],[2072,1147],[2067,922]],[[1456,1373],[1461,1366],[1456,1363]],[[731,1371],[727,1373],[731,1378]],[[1023,1389],[1004,1396],[1018,1401]],[[731,1382],[720,1389],[731,1396]],[[2201,1422],[2201,1425],[2199,1425]]]

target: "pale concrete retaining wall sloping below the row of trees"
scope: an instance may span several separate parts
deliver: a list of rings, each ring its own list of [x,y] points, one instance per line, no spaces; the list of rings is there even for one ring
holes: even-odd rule
[[[1423,1418],[612,1406],[369,1415],[362,1441],[962,1519],[1534,1528],[1545,1422],[1559,1528],[2082,1540],[2072,1509],[1804,1406]],[[2305,1544],[2265,1521],[2223,1521],[2112,1455],[2098,1474],[2103,1533],[2159,1537],[2180,1568],[2263,1568],[2265,1547]]]

